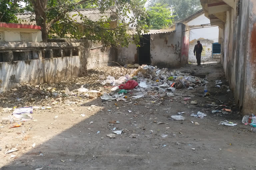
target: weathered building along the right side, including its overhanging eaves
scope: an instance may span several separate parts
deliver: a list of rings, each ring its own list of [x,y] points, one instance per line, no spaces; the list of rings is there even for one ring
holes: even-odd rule
[[[244,115],[256,113],[256,1],[200,0],[211,25],[219,26],[221,62]]]

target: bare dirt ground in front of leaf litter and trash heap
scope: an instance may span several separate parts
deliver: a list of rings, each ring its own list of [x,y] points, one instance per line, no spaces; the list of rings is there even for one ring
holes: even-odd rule
[[[177,89],[175,97],[178,98],[175,99],[134,99],[128,94],[126,102],[102,102],[100,98],[94,98],[70,106],[56,104],[49,110],[34,110],[34,119],[24,122],[21,127],[9,129],[10,124],[1,125],[1,169],[255,170],[256,133],[250,132],[249,125],[241,123],[242,117],[234,104],[232,91],[215,87],[215,80],[228,85],[221,64],[187,64],[179,70],[207,74],[211,96],[227,105],[219,109],[227,108],[232,112],[228,115],[212,114],[216,106],[209,104],[220,105],[220,102],[198,96],[203,94],[202,86],[193,90]],[[197,105],[183,101],[184,97],[193,95],[191,98],[197,101]],[[198,111],[207,117],[190,116]],[[170,118],[178,112],[186,112],[182,114],[186,118],[184,121]],[[8,115],[11,112],[1,113],[1,117]],[[120,123],[109,125],[113,120]],[[238,125],[218,125],[225,120]],[[112,133],[114,127],[123,129],[123,132],[116,138],[109,138],[106,135]],[[131,138],[131,134],[139,136]],[[162,134],[168,136],[162,137]],[[5,154],[13,147],[19,150]],[[11,158],[11,155],[16,156]]]

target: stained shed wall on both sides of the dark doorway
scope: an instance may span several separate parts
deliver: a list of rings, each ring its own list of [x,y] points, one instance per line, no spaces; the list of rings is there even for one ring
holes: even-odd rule
[[[188,63],[189,31],[182,23],[176,23],[175,31],[150,35],[151,65],[173,67]],[[138,60],[137,47],[117,49],[117,61],[120,64],[135,63]]]

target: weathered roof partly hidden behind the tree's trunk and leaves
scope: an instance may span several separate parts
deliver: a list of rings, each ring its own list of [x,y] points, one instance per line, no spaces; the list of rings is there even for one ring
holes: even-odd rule
[[[114,9],[114,8],[115,7],[113,7],[112,9]],[[80,19],[80,16],[78,15],[79,13],[81,13],[83,16],[86,16],[88,19],[90,19],[91,21],[94,21],[94,22],[99,21],[100,19],[106,18],[106,16],[110,17],[112,14],[114,14],[114,13],[112,13],[112,11],[110,9],[108,9],[104,13],[101,13],[99,8],[89,8],[89,9],[73,10],[72,12],[69,13],[69,16],[71,18],[73,18],[74,20],[76,20],[76,22],[81,23],[82,20]],[[77,14],[77,15],[75,15],[75,14]],[[32,25],[36,24],[35,21],[33,21],[33,22],[30,21],[30,19],[35,18],[34,13],[18,13],[15,15],[17,16],[18,19],[23,20],[23,21],[21,21],[22,24],[32,24]]]

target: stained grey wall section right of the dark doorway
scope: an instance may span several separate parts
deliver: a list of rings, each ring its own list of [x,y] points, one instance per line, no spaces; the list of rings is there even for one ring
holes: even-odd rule
[[[189,31],[177,23],[174,32],[152,34],[150,38],[151,64],[163,67],[181,66],[188,63]]]

